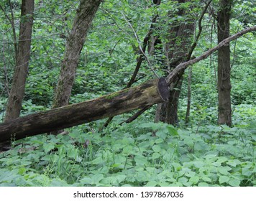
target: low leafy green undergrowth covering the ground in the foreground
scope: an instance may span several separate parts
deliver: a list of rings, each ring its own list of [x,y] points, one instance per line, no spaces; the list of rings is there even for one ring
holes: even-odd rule
[[[136,121],[15,141],[1,186],[256,186],[255,128]]]

